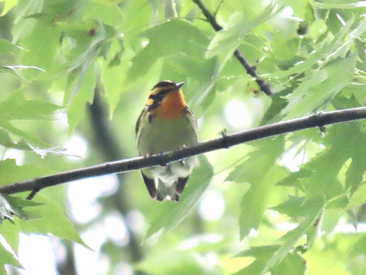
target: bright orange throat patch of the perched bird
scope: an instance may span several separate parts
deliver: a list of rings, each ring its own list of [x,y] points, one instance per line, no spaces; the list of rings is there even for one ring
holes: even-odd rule
[[[158,118],[176,120],[182,116],[186,106],[182,91],[171,92],[164,97],[160,106],[153,113]]]

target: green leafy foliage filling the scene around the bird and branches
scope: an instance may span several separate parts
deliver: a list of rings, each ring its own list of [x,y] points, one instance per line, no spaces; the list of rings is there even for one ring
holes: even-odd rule
[[[161,80],[186,83],[201,140],[365,104],[364,1],[203,3],[223,31],[191,0],[1,1],[0,183],[134,157],[135,121]],[[258,90],[237,48],[274,95]],[[34,203],[7,197],[30,219],[0,225],[0,274],[4,264],[22,272],[10,266],[30,257],[13,256],[22,234],[61,238],[50,237],[59,274],[85,274],[72,242],[97,250],[88,265],[99,274],[364,274],[365,126],[208,153],[179,203],[150,199],[137,171],[47,188]],[[63,155],[75,137],[86,158]],[[96,214],[76,219],[90,193]],[[78,234],[105,231],[115,237],[96,247]]]

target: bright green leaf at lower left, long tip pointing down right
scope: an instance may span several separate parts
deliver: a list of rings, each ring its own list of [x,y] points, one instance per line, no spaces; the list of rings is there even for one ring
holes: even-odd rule
[[[33,201],[41,203],[37,206],[36,215],[40,216],[34,220],[20,220],[16,219],[16,223],[19,223],[22,232],[27,234],[52,234],[56,237],[67,239],[81,244],[87,249],[91,249],[80,238],[78,232],[75,230],[74,225],[67,219],[63,213],[63,209],[50,199],[36,195]]]

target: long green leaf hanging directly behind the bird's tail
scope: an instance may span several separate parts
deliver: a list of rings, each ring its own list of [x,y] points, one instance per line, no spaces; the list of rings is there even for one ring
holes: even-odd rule
[[[167,234],[180,224],[190,210],[198,204],[199,198],[213,177],[213,168],[206,157],[199,155],[198,160],[199,166],[193,169],[188,185],[180,196],[179,203],[170,201],[159,203],[157,215],[147,230],[146,238],[157,240]]]

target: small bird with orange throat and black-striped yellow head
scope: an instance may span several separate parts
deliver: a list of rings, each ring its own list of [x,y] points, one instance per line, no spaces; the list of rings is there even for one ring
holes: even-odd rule
[[[164,80],[149,92],[135,128],[137,153],[147,156],[198,143],[197,120],[184,100],[184,82]],[[197,157],[141,169],[150,197],[179,201]]]

